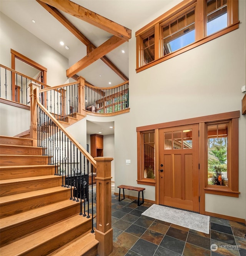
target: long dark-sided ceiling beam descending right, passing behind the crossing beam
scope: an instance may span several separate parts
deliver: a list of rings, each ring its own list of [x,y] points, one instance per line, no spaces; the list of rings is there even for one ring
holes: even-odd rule
[[[76,28],[62,13],[60,13],[55,7],[50,6],[46,3],[36,0],[40,5],[42,5],[45,10],[47,10],[53,17],[55,17],[64,27],[66,27],[76,38],[78,38],[86,47],[91,50],[96,49],[96,46],[93,45],[88,38],[83,35],[78,28]],[[91,51],[87,51],[87,54]],[[123,72],[121,72],[106,56],[101,57],[101,60],[110,67],[123,81],[128,81]]]

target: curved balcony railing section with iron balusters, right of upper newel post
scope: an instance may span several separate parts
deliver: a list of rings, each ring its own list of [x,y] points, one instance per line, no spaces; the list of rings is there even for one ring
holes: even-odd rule
[[[85,83],[85,109],[108,114],[129,108],[129,81],[114,87],[94,87]]]

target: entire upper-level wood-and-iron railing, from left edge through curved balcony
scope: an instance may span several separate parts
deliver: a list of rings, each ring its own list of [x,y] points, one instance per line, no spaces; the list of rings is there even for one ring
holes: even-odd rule
[[[86,115],[114,115],[128,112],[129,82],[114,87],[95,87],[78,77],[78,81],[50,87],[0,64],[0,100],[15,102],[18,107],[29,109],[30,85],[40,88],[40,102],[58,120],[75,113]]]

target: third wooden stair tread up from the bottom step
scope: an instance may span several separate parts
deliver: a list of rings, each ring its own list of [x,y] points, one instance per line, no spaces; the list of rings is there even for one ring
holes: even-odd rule
[[[0,222],[0,229],[9,228],[14,225],[20,225],[23,222],[31,221],[32,219],[40,218],[47,214],[52,214],[53,212],[58,212],[59,210],[67,207],[71,207],[74,204],[79,204],[80,202],[76,202],[73,200],[65,200],[61,202],[56,202],[54,204],[49,204],[47,206],[43,206],[40,208],[36,208],[30,211],[21,212],[19,214],[15,214],[12,216],[8,216],[4,218],[4,221]]]

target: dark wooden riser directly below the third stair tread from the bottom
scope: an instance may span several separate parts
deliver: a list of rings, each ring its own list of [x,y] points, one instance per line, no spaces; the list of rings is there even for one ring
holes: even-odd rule
[[[58,221],[62,221],[63,219],[78,214],[79,212],[80,204],[74,203],[71,207],[66,207],[62,210],[52,212],[51,214],[45,214],[38,219],[28,220],[18,226],[1,229],[1,247],[5,246],[8,243],[11,243],[17,238],[30,234],[34,231],[37,231],[38,229],[45,228]]]

